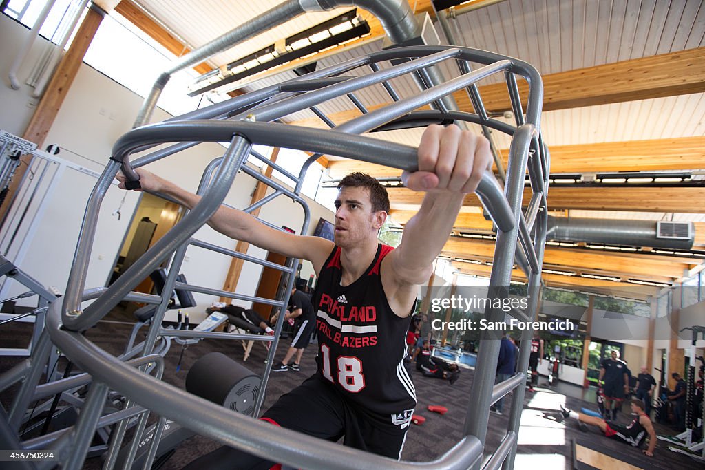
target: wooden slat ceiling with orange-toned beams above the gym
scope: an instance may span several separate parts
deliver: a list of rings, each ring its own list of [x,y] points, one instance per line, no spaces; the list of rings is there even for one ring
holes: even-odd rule
[[[199,47],[281,1],[262,0],[252,4],[137,0],[137,3],[154,20],[177,33],[177,44],[172,44],[172,49],[178,49],[178,40],[185,47]],[[431,10],[429,0],[409,3],[417,11]],[[676,170],[705,173],[705,6],[700,0],[489,3],[493,4],[462,14],[451,23],[462,45],[521,58],[541,71],[545,87],[542,131],[551,149],[553,173]],[[301,16],[215,56],[209,65],[221,66],[345,9]],[[372,37],[381,37],[379,21],[364,11],[360,14],[369,20]],[[140,19],[133,21],[139,23]],[[439,30],[437,26],[436,29]],[[165,40],[173,42],[174,37]],[[334,56],[329,51],[319,66],[379,50],[381,41],[368,39],[364,46],[354,47],[355,44],[339,47]],[[285,68],[282,66],[278,75],[267,73],[265,80],[247,85],[244,91],[291,78],[293,74],[284,71]],[[458,75],[449,66],[441,68],[448,78]],[[412,83],[397,85],[402,92],[412,91]],[[508,109],[503,83],[488,80],[480,84],[480,89],[488,109]],[[366,89],[360,99],[369,109],[375,109],[386,104],[388,95]],[[465,95],[458,94],[457,99],[461,109],[472,111]],[[336,123],[360,114],[343,99],[331,100],[320,108]],[[323,127],[308,111],[296,113],[288,121]],[[410,145],[416,145],[419,136],[419,130],[375,135]],[[509,137],[498,132],[494,136],[505,161]],[[399,174],[389,168],[336,156],[326,158],[331,178],[340,178],[353,169],[376,177]],[[389,192],[392,218],[403,224],[414,214],[422,195],[403,188],[391,188]],[[705,187],[552,187],[548,204],[552,211],[562,210],[556,215],[615,218],[615,223],[621,218],[697,221],[695,246],[705,247]],[[491,223],[482,216],[477,197],[469,195],[465,206],[455,228],[489,233]],[[486,261],[494,251],[493,242],[487,240],[453,238],[448,243],[446,254],[466,259],[475,256]],[[585,249],[548,247],[546,250],[546,266],[554,270],[608,273],[623,280],[636,276],[655,282],[673,281],[699,262],[646,254],[592,253]],[[460,265],[457,266],[460,271],[473,271],[481,276],[489,270],[485,265]],[[582,285],[613,292],[628,292],[632,287],[624,287],[625,282],[611,285],[577,276],[546,274],[544,280],[554,285]]]

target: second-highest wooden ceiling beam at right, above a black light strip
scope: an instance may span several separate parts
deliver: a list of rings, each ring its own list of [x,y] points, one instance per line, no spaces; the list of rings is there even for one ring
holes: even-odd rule
[[[357,113],[359,116],[360,113]],[[705,137],[553,145],[551,173],[601,173],[608,171],[694,170],[705,166]],[[500,149],[504,168],[508,149]],[[401,170],[350,159],[330,163],[331,178],[362,171],[374,178],[398,178]]]

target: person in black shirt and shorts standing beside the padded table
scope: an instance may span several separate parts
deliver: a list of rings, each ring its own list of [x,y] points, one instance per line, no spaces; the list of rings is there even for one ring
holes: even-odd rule
[[[272,321],[276,321],[277,315],[272,316]],[[281,372],[288,371],[289,369],[293,371],[300,371],[301,369],[301,357],[304,354],[304,350],[308,346],[311,340],[311,333],[313,333],[316,326],[316,314],[313,311],[313,306],[309,297],[294,287],[291,290],[291,297],[289,297],[289,309],[284,314],[284,321],[288,319],[295,319],[294,326],[294,339],[291,342],[284,359],[277,365],[271,368],[272,371]],[[289,361],[296,354],[293,364],[289,364]]]

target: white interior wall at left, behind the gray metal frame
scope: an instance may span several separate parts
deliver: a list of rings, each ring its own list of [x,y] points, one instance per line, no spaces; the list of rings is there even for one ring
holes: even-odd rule
[[[2,44],[21,44],[28,32],[22,25],[0,15]],[[32,48],[30,56],[20,70],[18,75],[20,80],[25,80],[32,66],[32,60],[36,59],[41,51],[41,44],[46,42],[43,39],[37,39],[35,47]],[[22,89],[15,91],[9,87],[6,77],[13,60],[12,54],[2,54],[0,57],[0,73],[4,77],[4,85],[0,87],[0,102],[3,103],[0,107],[0,128],[22,135],[34,111],[27,107],[27,103],[32,102],[30,95],[33,89],[23,85]],[[58,144],[62,149],[59,156],[64,159],[86,166],[92,171],[102,171],[111,154],[113,143],[130,130],[141,104],[142,97],[83,64],[66,94],[66,99],[54,125],[49,130],[45,143]],[[152,121],[169,117],[171,116],[166,112],[157,109],[154,111]],[[221,156],[223,151],[223,147],[219,144],[200,144],[180,154],[151,163],[147,168],[195,192],[204,168],[209,161]],[[56,285],[61,290],[65,287],[87,194],[92,190],[93,184],[94,179],[90,184],[75,178],[66,180],[63,191],[56,193],[56,197],[52,200],[52,204],[62,211],[52,209],[42,218],[35,240],[32,240],[28,249],[30,256],[26,256],[23,264],[20,265],[20,268],[35,276],[40,283]],[[256,181],[253,178],[241,173],[226,197],[226,203],[235,207],[246,206],[250,203],[255,184]],[[118,250],[128,230],[137,201],[137,193],[128,193],[121,208],[122,217],[118,226],[116,217],[111,216],[111,213],[118,208],[123,196],[125,192],[117,187],[111,187],[106,194],[91,257],[92,264],[87,287],[104,285],[118,256]],[[312,214],[310,233],[319,217],[332,220],[333,214],[310,199],[308,202]],[[262,216],[277,225],[288,225],[300,230],[302,211],[292,211],[290,204],[283,198],[276,200],[271,206],[265,206],[262,209]],[[216,233],[207,226],[201,228],[195,237],[230,249],[234,249],[236,245],[235,240]],[[262,250],[251,247],[250,254],[252,253],[261,254]],[[47,270],[48,259],[51,259],[50,270]],[[219,289],[223,286],[230,263],[231,259],[228,256],[190,247],[180,271],[185,274],[190,283]],[[242,281],[238,286],[238,292],[253,295],[260,271],[261,268],[257,266],[245,264],[240,276]],[[308,271],[302,271],[302,275],[307,276],[307,274]],[[199,294],[195,297],[200,305],[210,304],[217,299],[214,296]],[[198,309],[202,310],[202,307]]]

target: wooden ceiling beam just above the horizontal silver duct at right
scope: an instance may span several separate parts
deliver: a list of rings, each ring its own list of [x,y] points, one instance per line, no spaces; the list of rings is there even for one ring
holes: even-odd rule
[[[424,197],[405,187],[387,188],[392,209],[418,210]],[[531,199],[525,189],[524,201]],[[684,202],[687,201],[687,204]],[[464,206],[479,207],[479,199],[467,194]],[[551,187],[548,207],[604,211],[705,213],[705,187]]]

